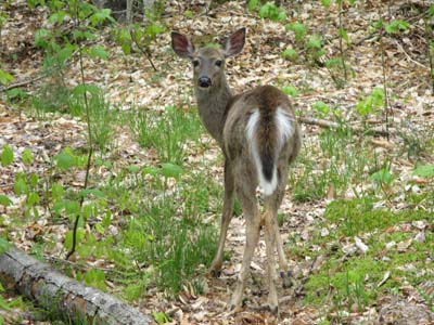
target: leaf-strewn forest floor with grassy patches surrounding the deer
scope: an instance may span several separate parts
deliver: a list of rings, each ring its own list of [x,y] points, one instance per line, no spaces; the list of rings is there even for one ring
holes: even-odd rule
[[[59,90],[80,82],[79,62],[74,56],[61,74],[25,84],[26,95],[0,87],[0,152],[9,145],[15,157],[0,172],[0,194],[12,203],[0,205],[1,236],[55,263],[62,272],[129,300],[161,323],[434,324],[434,77],[430,75],[425,2],[356,1],[344,6],[342,23],[350,40],[343,40],[346,81],[340,64],[327,63],[340,55],[335,3],[324,9],[321,1],[281,1],[288,17],[273,22],[248,11],[244,1],[226,2],[209,12],[201,1],[166,2],[162,18],[166,32],[151,44],[157,72],[139,51],[126,55],[114,41],[111,26],[105,26],[104,36],[95,41],[106,49],[110,60],[85,60],[86,82],[103,90],[102,102],[108,103],[114,114],[108,119],[101,116],[103,123],[110,125],[108,135],[99,143],[90,173],[90,187],[99,188],[106,199],[90,205],[93,210],[81,224],[81,251],[67,263],[63,262],[69,247],[65,237],[71,236],[73,219],[53,218],[53,211],[47,209],[50,204],[43,204],[43,184],[36,208],[29,207],[28,193],[17,194],[16,184],[20,178],[31,182],[31,174],[36,174],[36,183],[61,183],[67,193],[82,186],[86,172],[79,162],[72,171],[53,169],[53,157],[66,147],[77,161],[87,153],[86,119],[71,114],[72,104]],[[34,46],[35,34],[42,26],[54,27],[47,23],[47,9],[29,9],[26,1],[13,1],[7,12],[9,17],[0,29],[0,68],[15,77],[13,84],[42,75],[44,53]],[[409,25],[380,39],[372,28],[379,13],[385,22],[400,20]],[[285,29],[294,22],[307,26],[302,40]],[[279,318],[260,309],[267,297],[263,237],[252,263],[245,303],[238,313],[227,310],[245,243],[245,223],[238,207],[241,216],[233,218],[229,229],[222,274],[219,278],[206,276],[215,249],[207,245],[215,245],[218,234],[222,157],[209,135],[195,127],[191,64],[170,48],[169,30],[205,44],[221,41],[241,26],[247,28],[246,46],[227,63],[228,81],[234,91],[270,83],[292,96],[298,117],[337,121],[340,126],[323,129],[302,125],[303,148],[279,214],[295,283],[291,289],[279,289]],[[316,58],[317,50],[308,46],[314,35],[322,37],[321,58]],[[282,56],[290,48],[297,53],[292,60]],[[159,133],[175,133],[171,127],[183,117],[166,113],[167,107],[189,116],[184,122],[191,123],[186,131],[191,138],[186,135],[180,156],[149,145],[146,128],[155,125],[146,125],[145,118],[144,127],[137,122],[143,117],[138,112],[149,113],[155,123],[159,117],[175,114],[170,126],[157,125]],[[366,132],[352,132],[353,126],[361,126]],[[390,135],[372,134],[373,127],[384,128]],[[20,158],[27,151],[33,156],[29,164]],[[158,183],[153,172],[162,169],[164,174],[168,165],[163,162],[180,166],[182,177],[165,176]],[[142,216],[149,208],[145,200],[163,205],[170,198],[175,207],[167,204],[164,211],[176,220],[188,216],[193,226],[203,231],[189,233],[181,245],[189,245],[192,251],[190,246],[197,245],[209,250],[195,256],[191,274],[186,275],[181,266],[174,271],[178,277],[173,287],[158,283],[158,278],[166,278],[158,272],[166,272],[168,263],[163,261],[168,252],[155,253],[152,261],[159,264],[143,256],[157,235],[142,224],[152,219],[148,225],[170,227],[173,221],[154,218],[163,208],[154,216]],[[155,211],[153,208],[149,211]],[[135,223],[135,219],[140,222]],[[99,224],[102,227],[95,226]],[[136,244],[140,232],[149,236]],[[180,232],[170,235],[181,236]],[[170,243],[175,243],[167,248],[171,252],[178,242]],[[103,284],[86,277],[91,269],[103,271]],[[50,322],[28,302],[18,303],[15,294],[1,295],[12,311],[8,315],[0,312],[7,322]]]

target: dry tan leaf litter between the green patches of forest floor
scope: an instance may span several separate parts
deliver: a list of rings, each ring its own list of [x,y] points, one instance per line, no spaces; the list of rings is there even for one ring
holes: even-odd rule
[[[299,94],[293,99],[297,112],[303,116],[315,116],[312,105],[318,101],[326,102],[330,107],[339,106],[344,110],[343,117],[348,122],[359,118],[354,109],[360,96],[368,95],[373,89],[382,86],[382,65],[378,42],[369,34],[368,27],[371,22],[379,17],[379,1],[369,1],[366,5],[357,3],[346,9],[344,25],[347,29],[350,46],[346,46],[346,57],[352,73],[356,76],[349,78],[343,89],[336,89],[330,77],[330,72],[326,67],[312,65],[310,62],[298,60],[290,62],[283,60],[281,52],[289,46],[296,47],[294,36],[284,30],[281,23],[269,20],[259,20],[254,13],[247,12],[243,3],[237,1],[225,2],[213,9],[209,15],[205,12],[203,1],[166,1],[166,13],[164,22],[174,29],[193,35],[194,37],[227,35],[240,26],[247,27],[247,42],[241,55],[228,62],[228,78],[235,91],[243,91],[257,84],[272,83],[276,86],[294,86]],[[289,12],[289,21],[303,21],[308,25],[309,34],[320,34],[324,38],[326,53],[328,56],[336,55],[339,51],[339,38],[336,37],[337,8],[332,5],[326,11],[319,1],[303,1],[293,3],[281,1]],[[412,18],[411,12],[406,10],[406,5],[420,5],[422,1],[394,1],[387,10],[393,17]],[[424,3],[424,2],[423,2]],[[194,17],[189,18],[179,14],[186,9],[194,10]],[[383,8],[383,16],[386,10]],[[41,8],[36,9],[30,14],[26,6],[26,1],[14,1],[10,9],[10,18],[2,28],[2,41],[4,49],[2,58],[9,57],[5,53],[13,53],[18,60],[4,60],[2,69],[12,73],[18,80],[34,78],[38,74],[41,65],[42,53],[33,48],[34,34],[36,29],[44,24],[46,14]],[[408,15],[408,16],[406,16]],[[403,17],[404,16],[404,17]],[[310,17],[315,17],[311,20]],[[23,23],[25,22],[25,23]],[[418,179],[412,176],[414,167],[414,156],[403,155],[400,150],[406,145],[409,138],[433,136],[434,122],[434,96],[430,90],[430,78],[427,70],[424,35],[421,34],[423,22],[416,22],[404,35],[384,37],[385,47],[385,70],[388,78],[390,91],[393,93],[388,101],[393,107],[392,119],[394,126],[399,129],[401,136],[373,138],[370,139],[372,150],[375,151],[379,159],[384,160],[387,156],[399,156],[392,162],[395,174],[400,176],[399,182],[392,183],[391,193],[403,193],[401,184],[406,184],[404,191],[420,192],[418,185],[425,188],[433,186],[432,179]],[[213,38],[213,37],[212,37]],[[214,39],[221,40],[220,38]],[[110,49],[110,61],[86,61],[86,80],[94,82],[105,90],[105,98],[113,105],[118,105],[120,109],[128,110],[132,105],[161,110],[165,106],[178,106],[182,109],[191,109],[194,105],[194,98],[191,92],[191,70],[190,66],[175,57],[170,51],[168,32],[157,38],[151,46],[153,60],[157,65],[158,78],[153,78],[153,73],[148,62],[135,53],[128,57],[122,53],[118,46],[114,44],[108,32],[104,39],[99,40]],[[422,50],[421,50],[422,49]],[[78,63],[73,61],[66,69],[65,80],[69,87],[78,84]],[[38,81],[41,82],[41,81]],[[35,92],[36,86],[27,86],[29,92]],[[372,120],[381,123],[381,118]],[[47,121],[39,121],[26,115],[24,112],[16,112],[8,102],[0,102],[0,147],[5,144],[11,145],[14,155],[21,156],[24,148],[29,148],[33,156],[38,160],[31,165],[34,172],[41,174],[48,168],[49,157],[56,155],[65,146],[74,150],[86,147],[86,126],[76,118],[65,115],[50,115]],[[129,130],[119,128],[117,143],[114,150],[108,153],[110,159],[116,165],[117,169],[123,166],[137,165],[152,166],[157,164],[157,159],[151,152],[141,148],[132,139]],[[318,153],[312,145],[318,145],[320,130],[315,126],[303,126],[305,150],[312,150]],[[422,134],[422,135],[421,135]],[[203,135],[212,144],[209,150],[201,153],[201,157],[192,153],[188,164],[195,159],[206,159],[212,166],[212,174],[222,183],[222,168],[219,166],[219,151],[208,135]],[[151,155],[150,155],[151,154]],[[327,162],[327,157],[308,157]],[[434,164],[433,153],[422,153],[424,164]],[[116,169],[115,168],[115,169]],[[21,213],[23,206],[22,199],[12,195],[14,174],[23,170],[21,161],[14,161],[11,167],[2,168],[0,176],[0,194],[11,197],[11,207],[2,208],[1,216],[3,224],[11,221],[8,216]],[[303,171],[303,166],[298,162],[293,168],[295,178]],[[92,167],[92,173],[104,179],[106,171],[103,167]],[[314,170],[315,172],[315,170]],[[82,185],[82,176],[76,174],[73,180],[63,180],[74,184],[77,188]],[[371,187],[369,183],[356,184],[358,192]],[[340,198],[350,199],[354,191],[348,191]],[[327,242],[331,234],[335,232],[335,224],[327,224],[324,212],[329,202],[337,198],[335,190],[330,186],[323,199],[310,202],[294,202],[291,198],[291,188],[286,195],[281,211],[286,216],[281,227],[281,234],[286,245],[289,262],[294,271],[294,277],[303,283],[311,272],[318,270],[328,260],[327,253],[322,251],[322,244],[310,245],[310,240],[316,236]],[[383,206],[391,206],[392,209],[405,209],[407,204],[406,196],[394,196],[394,202],[384,202]],[[46,236],[54,236],[55,245],[48,256],[62,256],[64,248],[60,244],[68,231],[65,224],[52,224],[47,211],[39,211],[40,217],[37,221],[28,221],[21,225],[12,226],[9,234],[16,246],[24,250],[30,250],[34,242]],[[217,222],[219,216],[214,220]],[[322,225],[321,225],[322,224]],[[318,226],[321,225],[320,230]],[[186,287],[178,297],[167,298],[162,292],[151,289],[140,301],[135,302],[143,312],[163,311],[173,318],[173,324],[320,324],[324,318],[324,311],[332,316],[334,324],[345,320],[345,324],[383,324],[397,320],[414,320],[414,324],[429,324],[433,320],[432,312],[426,306],[426,299],[421,297],[421,292],[433,295],[433,283],[424,282],[420,288],[411,285],[403,285],[399,290],[403,297],[381,296],[378,299],[376,308],[365,310],[333,311],[329,306],[324,309],[314,308],[303,304],[302,297],[294,291],[281,290],[281,316],[279,320],[268,313],[259,311],[265,299],[264,266],[265,265],[265,245],[261,242],[256,250],[255,259],[252,264],[253,278],[247,285],[246,297],[247,306],[237,314],[227,311],[227,303],[231,288],[235,282],[237,272],[241,263],[243,244],[245,243],[244,220],[233,218],[228,239],[227,250],[232,251],[230,261],[224,264],[222,276],[220,278],[206,278],[206,286],[203,295],[195,295],[194,290]],[[391,240],[385,244],[385,249],[391,251],[406,252],[412,249],[413,243],[424,243],[426,232],[432,232],[433,221],[413,221],[404,225],[395,225],[388,233],[410,233],[411,236]],[[0,229],[1,231],[1,229]],[[116,225],[113,232],[117,232]],[[294,239],[295,238],[295,239]],[[53,240],[53,237],[50,238]],[[296,240],[299,242],[296,242]],[[331,238],[330,238],[331,239]],[[345,257],[369,251],[369,245],[363,235],[341,238],[341,249]],[[304,247],[303,243],[309,244],[309,250],[321,251],[312,259],[309,256],[298,258],[293,256],[291,248]],[[328,244],[328,243],[324,243]],[[330,244],[330,243],[329,243]],[[331,246],[334,244],[332,243]],[[432,259],[432,257],[431,257]],[[93,265],[94,261],[89,261]],[[104,266],[102,263],[101,266]],[[106,265],[110,268],[110,265]],[[403,266],[405,272],[416,272],[414,265],[408,263]],[[427,272],[433,272],[432,266]],[[391,271],[386,271],[378,287],[383,287],[391,278]],[[303,284],[299,286],[303,292]],[[114,289],[115,291],[115,289]],[[303,295],[302,295],[303,296]],[[432,307],[431,307],[432,309]],[[337,320],[337,321],[336,321]],[[339,321],[341,320],[341,321]],[[431,321],[430,321],[431,320]],[[404,321],[403,321],[404,322]]]

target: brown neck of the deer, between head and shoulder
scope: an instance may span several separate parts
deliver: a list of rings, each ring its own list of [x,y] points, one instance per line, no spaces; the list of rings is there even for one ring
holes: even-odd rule
[[[232,99],[228,83],[212,88],[209,91],[195,90],[199,116],[209,134],[222,145],[222,131],[226,121],[226,110]]]

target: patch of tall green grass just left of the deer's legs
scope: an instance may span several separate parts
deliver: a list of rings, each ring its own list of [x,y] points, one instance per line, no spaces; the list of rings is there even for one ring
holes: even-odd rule
[[[177,170],[167,177],[163,167],[126,168],[104,188],[126,219],[120,236],[105,239],[105,253],[122,272],[114,281],[125,284],[129,300],[152,286],[169,295],[186,286],[202,290],[197,275],[210,263],[217,242],[217,229],[204,216],[219,214],[210,195],[220,188],[203,172]]]

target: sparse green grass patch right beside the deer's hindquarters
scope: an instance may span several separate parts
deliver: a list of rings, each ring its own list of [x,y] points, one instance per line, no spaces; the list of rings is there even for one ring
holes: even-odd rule
[[[299,172],[290,173],[294,199],[318,200],[329,192],[336,197],[345,196],[354,184],[368,179],[366,170],[370,166],[375,166],[375,157],[368,151],[362,138],[344,128],[323,130],[318,138],[305,142],[294,166],[299,168]],[[360,195],[358,192],[355,194]]]

